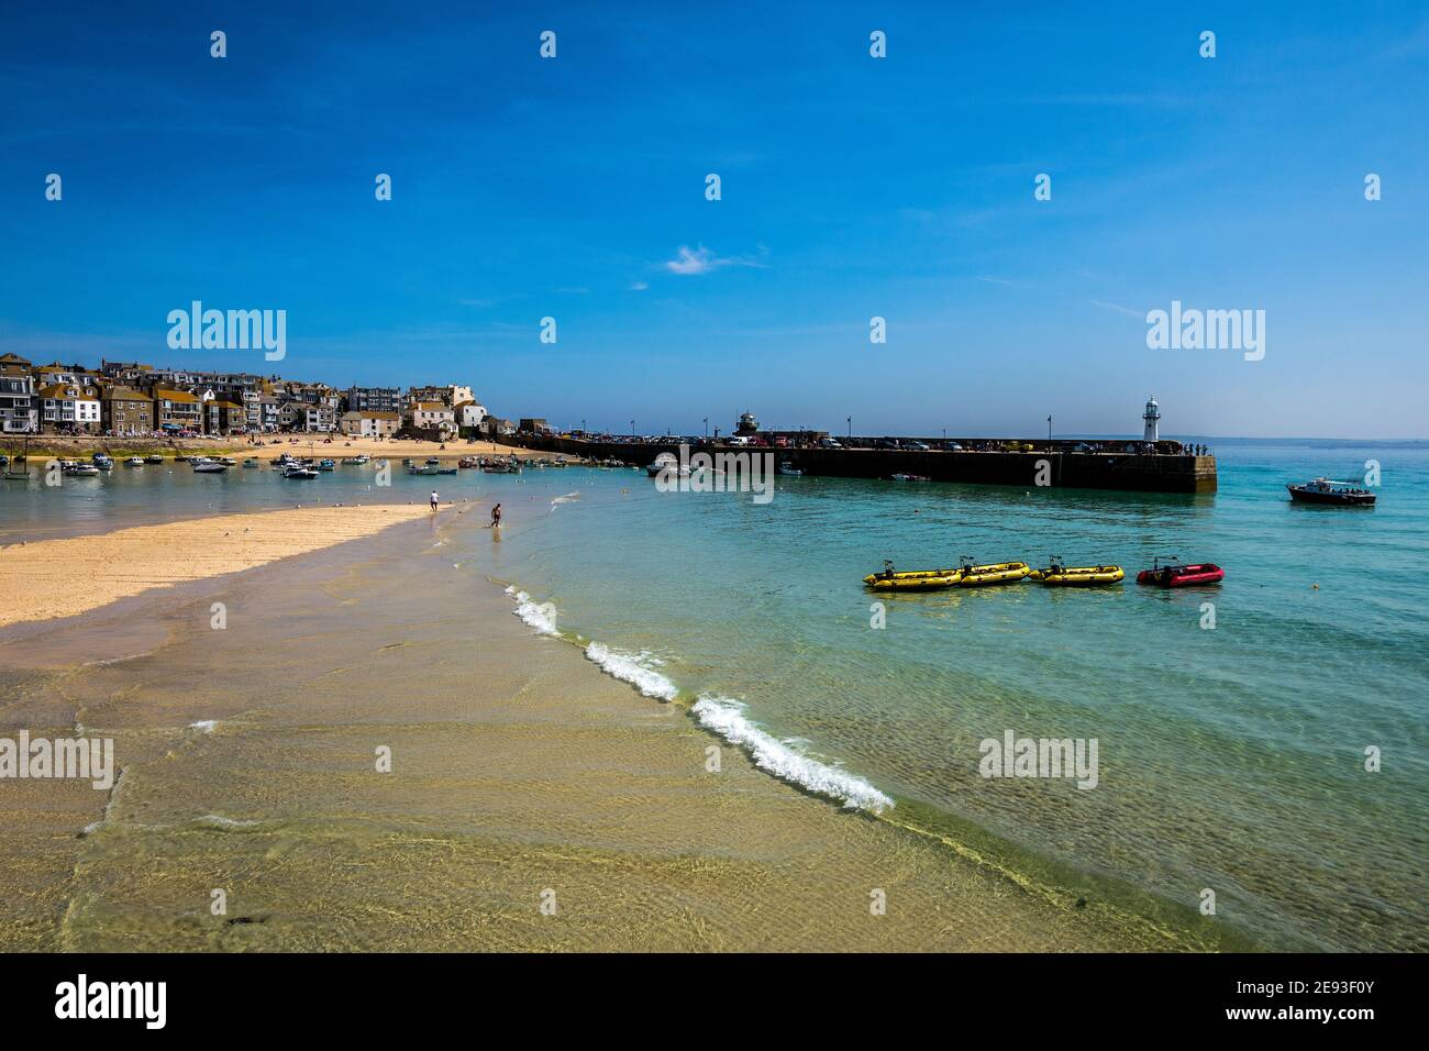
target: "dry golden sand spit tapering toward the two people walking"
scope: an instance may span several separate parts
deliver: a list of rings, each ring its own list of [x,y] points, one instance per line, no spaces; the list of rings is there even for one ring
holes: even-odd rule
[[[0,628],[74,616],[150,588],[306,555],[430,513],[406,503],[302,508],[11,543],[0,558],[7,596]]]

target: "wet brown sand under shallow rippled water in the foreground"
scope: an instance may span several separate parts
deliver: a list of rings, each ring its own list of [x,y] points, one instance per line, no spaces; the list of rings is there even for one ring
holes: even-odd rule
[[[47,628],[101,663],[16,666],[0,631],[0,734],[80,725],[123,769],[0,785],[0,949],[1169,947],[776,781],[533,635],[453,555],[497,539],[476,518]],[[141,655],[134,619],[161,626]]]

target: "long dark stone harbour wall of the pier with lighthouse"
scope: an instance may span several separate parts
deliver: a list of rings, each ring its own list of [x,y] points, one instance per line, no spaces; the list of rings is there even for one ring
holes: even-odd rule
[[[503,445],[569,456],[617,459],[646,466],[662,452],[679,455],[677,445],[647,442],[586,442],[553,435],[510,435]],[[1002,442],[999,442],[1002,443]],[[1037,483],[1042,463],[1050,485],[1072,489],[1122,489],[1127,492],[1210,493],[1216,490],[1216,458],[1187,453],[1072,452],[1053,445],[1032,452],[947,452],[940,449],[767,449],[694,443],[690,452],[772,453],[807,475],[829,478],[892,478],[925,475],[935,482],[976,485]]]

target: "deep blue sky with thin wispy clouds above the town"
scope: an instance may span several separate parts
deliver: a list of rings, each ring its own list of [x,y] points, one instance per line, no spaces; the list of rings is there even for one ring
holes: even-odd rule
[[[269,370],[167,347],[199,299],[622,430],[1429,438],[1429,11],[1322,7],[10,6],[0,349]],[[1172,300],[1265,359],[1147,349]]]

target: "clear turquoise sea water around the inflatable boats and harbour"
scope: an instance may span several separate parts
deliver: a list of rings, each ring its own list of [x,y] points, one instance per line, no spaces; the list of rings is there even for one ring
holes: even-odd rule
[[[377,490],[370,468],[306,483],[117,468],[57,492],[11,483],[0,539],[432,488],[497,499],[500,542],[472,529],[463,558],[524,592],[530,623],[594,641],[592,658],[652,704],[703,699],[696,718],[786,779],[870,809],[886,798],[886,819],[1073,898],[1165,904],[1175,922],[1265,948],[1426,949],[1429,448],[1220,440],[1216,453],[1220,490],[1195,498],[780,478],[767,505],[656,492],[633,470],[399,475]],[[1286,482],[1362,478],[1369,459],[1379,506],[1289,502]],[[1116,562],[1129,579],[860,585],[885,558],[963,553]],[[1157,555],[1218,562],[1226,581],[1135,585]],[[886,626],[872,626],[875,602]],[[980,776],[979,742],[1006,731],[1095,738],[1096,788]],[[1213,921],[1196,918],[1208,891]]]

